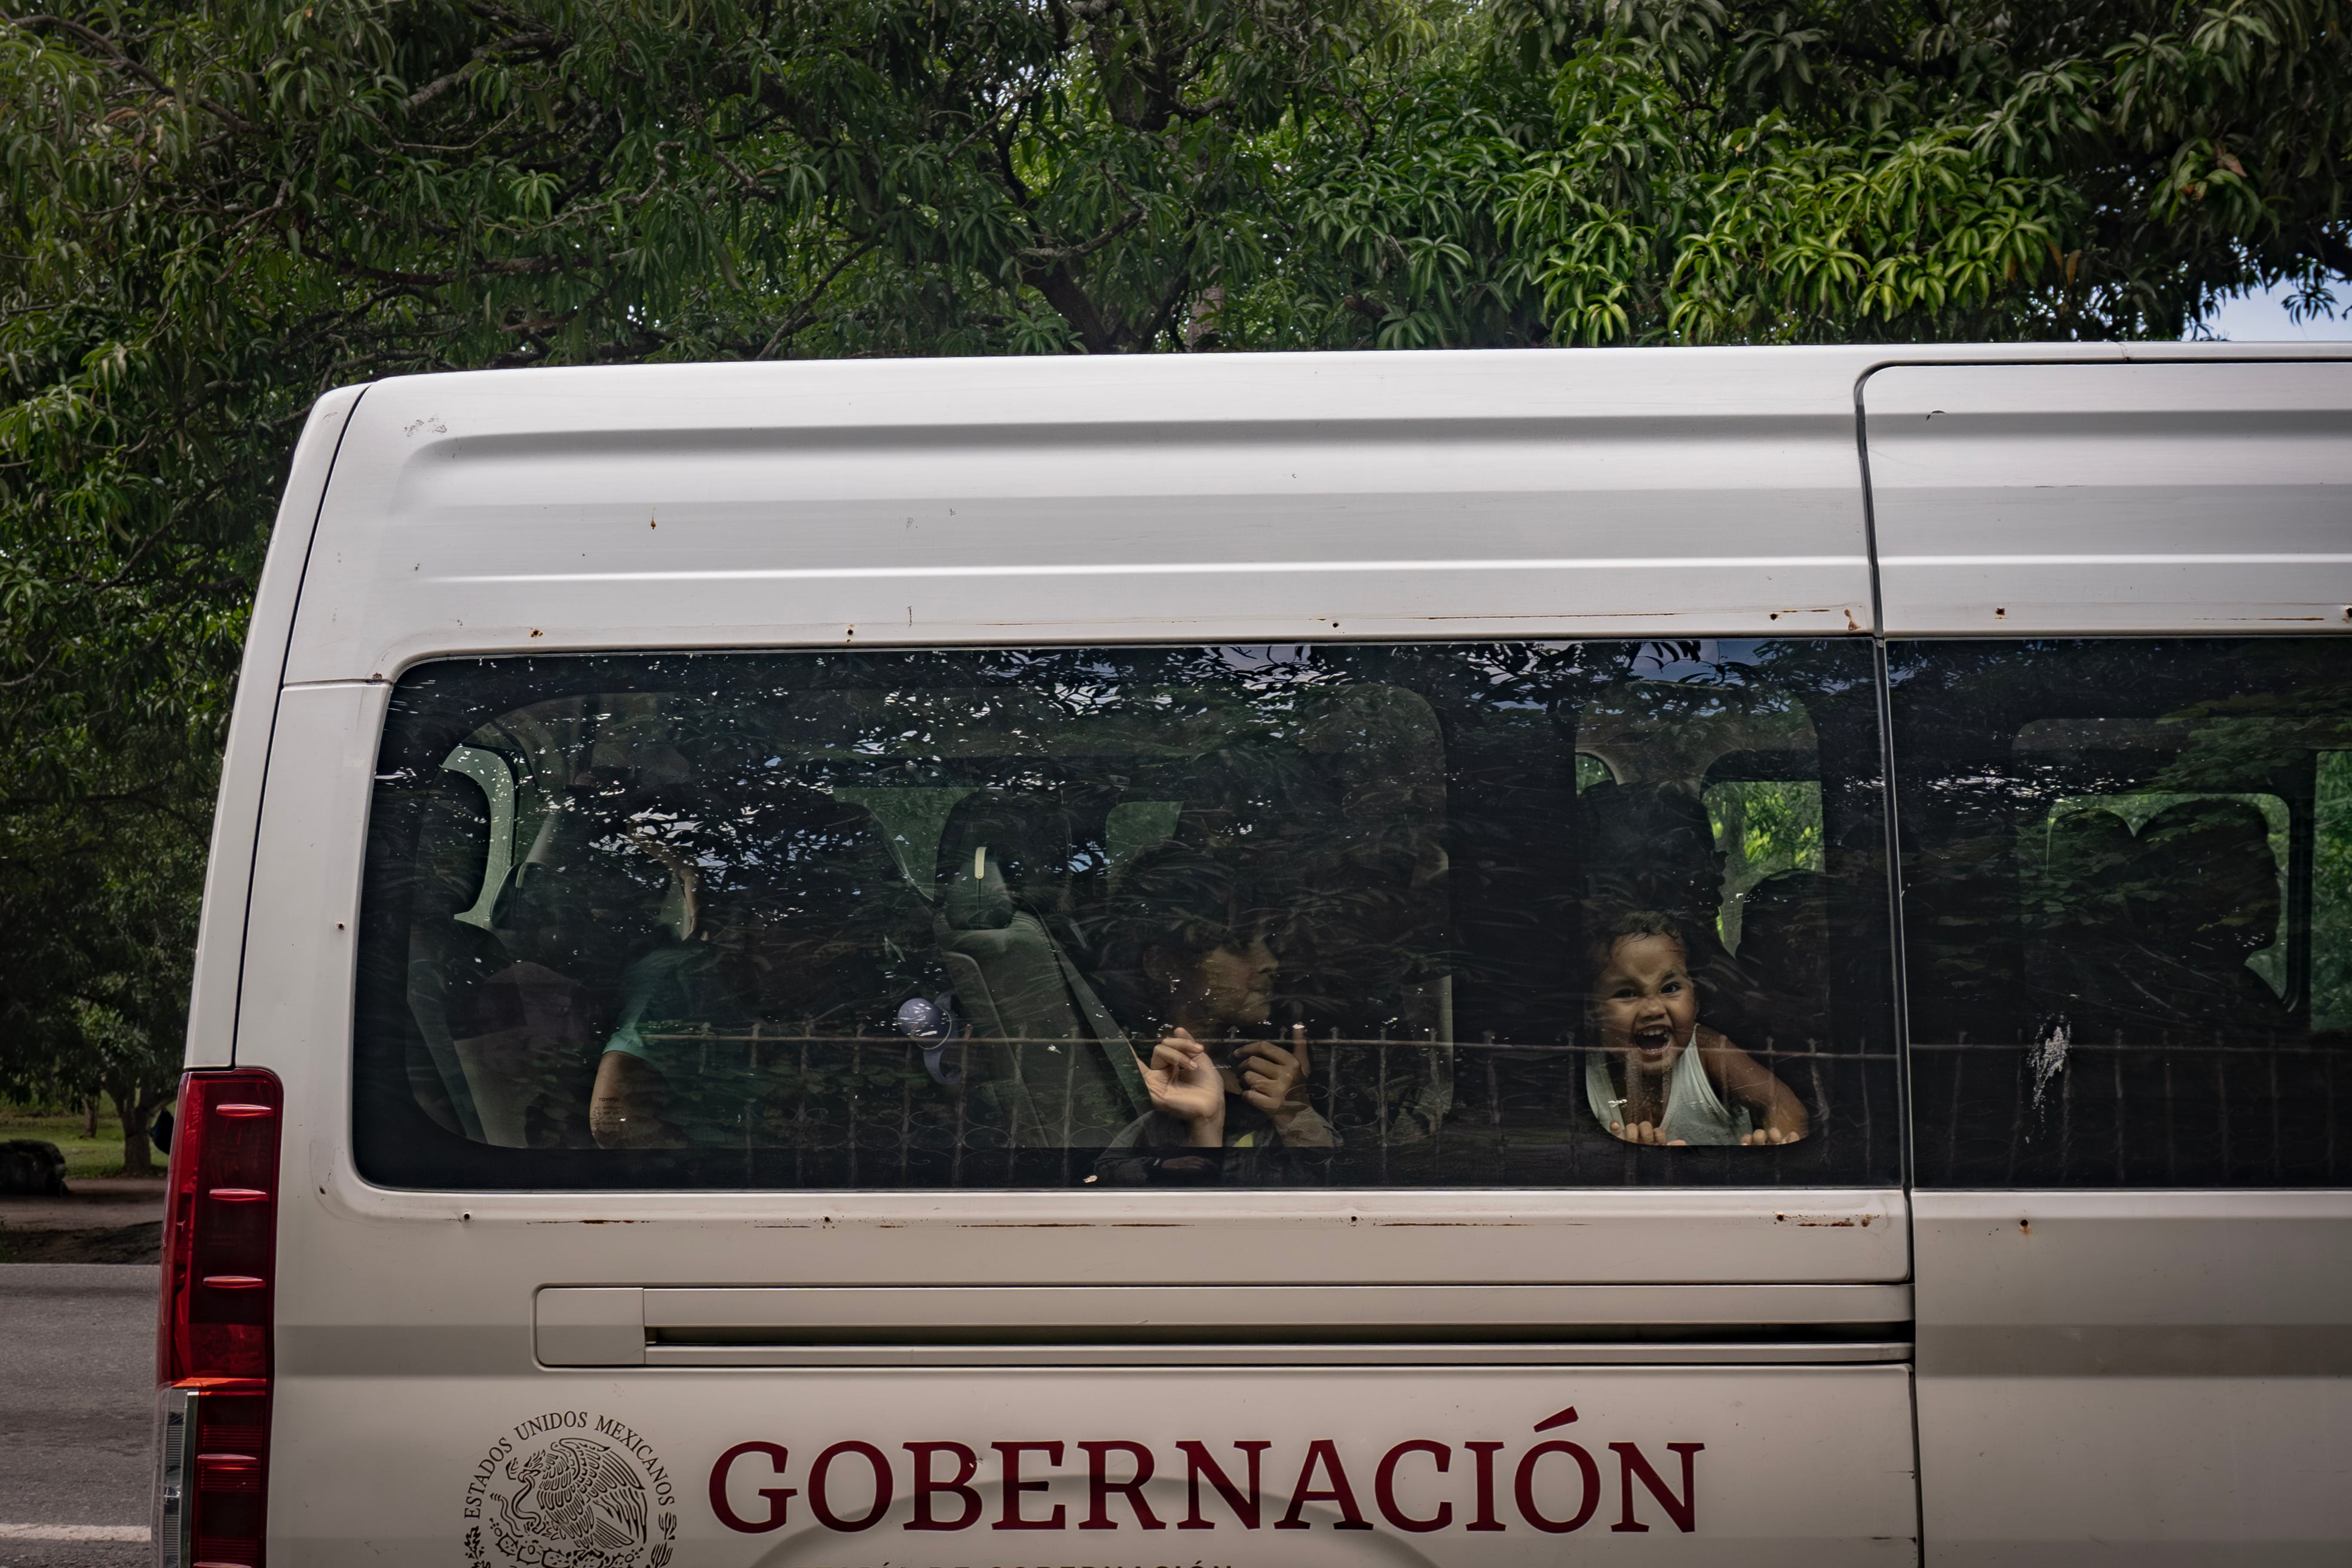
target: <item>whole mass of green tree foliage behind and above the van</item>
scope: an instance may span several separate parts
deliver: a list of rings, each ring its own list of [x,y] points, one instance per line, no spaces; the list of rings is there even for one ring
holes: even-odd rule
[[[329,386],[2176,336],[2251,282],[2328,303],[2347,87],[2336,0],[9,7],[0,1088],[169,1077],[245,597]]]

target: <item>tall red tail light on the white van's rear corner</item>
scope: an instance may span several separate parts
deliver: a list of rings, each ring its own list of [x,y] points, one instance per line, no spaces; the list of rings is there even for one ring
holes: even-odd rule
[[[155,1326],[158,1568],[259,1568],[285,1093],[259,1067],[179,1086]]]

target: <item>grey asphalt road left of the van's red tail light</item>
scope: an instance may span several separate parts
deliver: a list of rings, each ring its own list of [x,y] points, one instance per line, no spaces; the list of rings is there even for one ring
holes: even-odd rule
[[[0,1568],[143,1568],[141,1542],[7,1526],[139,1526],[155,1422],[155,1269],[0,1265]]]

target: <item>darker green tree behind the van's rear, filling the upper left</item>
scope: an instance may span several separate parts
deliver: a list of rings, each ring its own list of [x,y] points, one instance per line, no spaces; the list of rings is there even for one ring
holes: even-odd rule
[[[1265,263],[1265,134],[1381,26],[1345,0],[0,16],[7,1081],[174,1048],[155,1001],[183,994],[188,936],[165,912],[195,900],[247,595],[320,390],[1178,346],[1195,280]]]

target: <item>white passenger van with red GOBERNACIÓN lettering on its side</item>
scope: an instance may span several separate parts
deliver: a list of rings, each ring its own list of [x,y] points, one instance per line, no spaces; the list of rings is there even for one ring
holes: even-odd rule
[[[2352,1556],[2352,362],[320,400],[158,1563]]]

